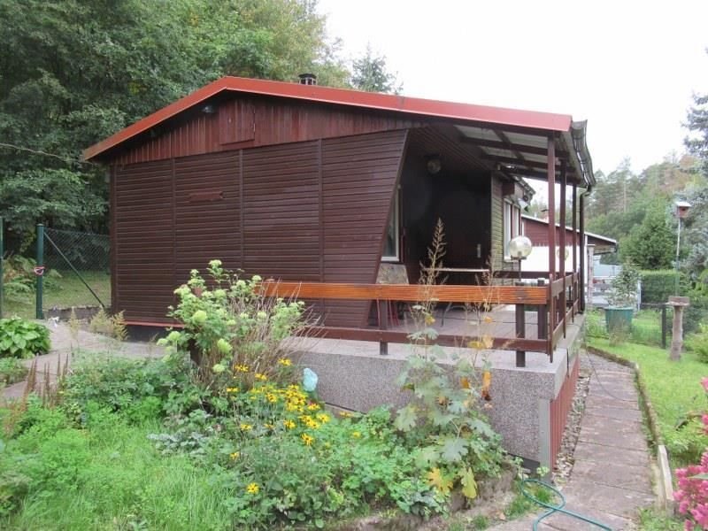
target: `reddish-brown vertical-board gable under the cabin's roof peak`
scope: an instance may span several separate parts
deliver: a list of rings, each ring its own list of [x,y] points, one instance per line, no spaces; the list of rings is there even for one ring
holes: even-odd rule
[[[112,164],[135,164],[224,150],[255,148],[320,138],[365,135],[421,122],[389,112],[288,101],[266,96],[231,95],[215,103],[216,112],[186,112],[112,154]]]

